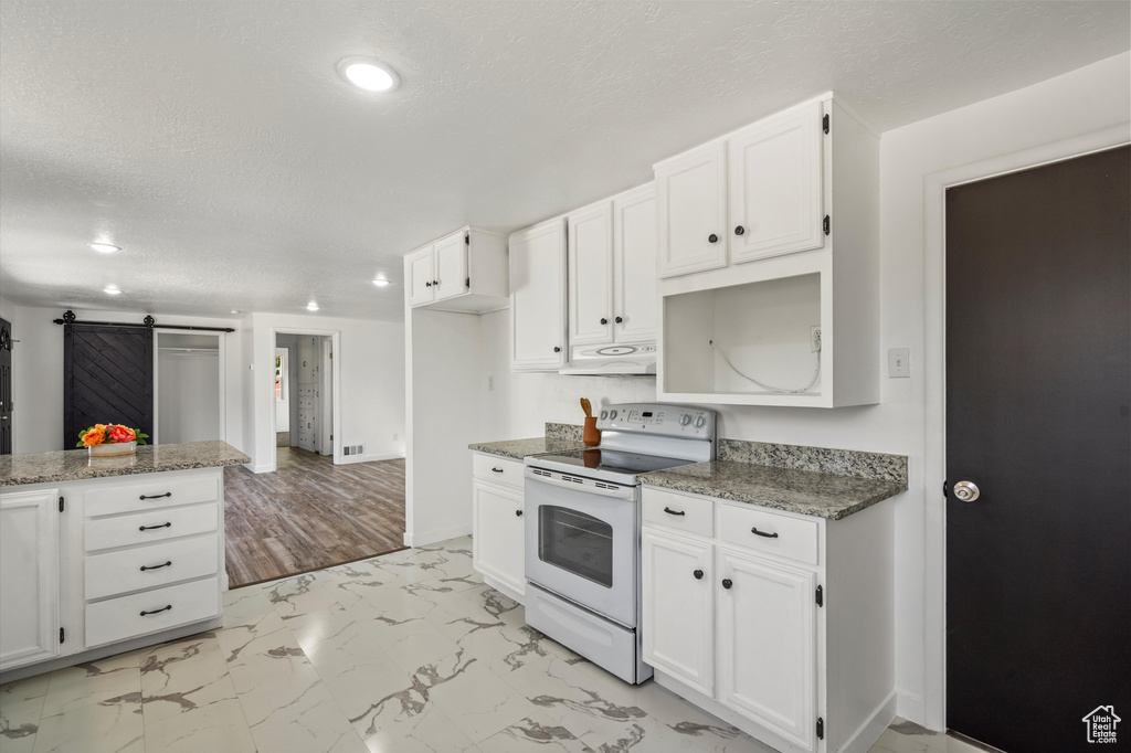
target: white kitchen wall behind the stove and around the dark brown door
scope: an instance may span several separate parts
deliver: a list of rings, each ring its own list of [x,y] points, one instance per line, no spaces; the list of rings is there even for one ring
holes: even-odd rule
[[[719,436],[835,447],[909,457],[909,488],[896,505],[896,686],[899,712],[939,726],[927,715],[924,581],[927,503],[941,500],[942,478],[926,478],[924,304],[924,181],[932,173],[1067,139],[1128,121],[1131,57],[1122,54],[1069,75],[883,135],[881,171],[881,401],[823,410],[709,406],[719,410]],[[507,312],[482,320],[480,441],[542,433],[545,421],[580,423],[579,397],[594,404],[655,399],[655,380],[511,374]],[[888,348],[910,348],[910,379],[888,379]],[[487,378],[494,375],[494,391]],[[938,573],[935,573],[938,574]],[[940,616],[935,616],[935,620]],[[935,625],[941,628],[941,625]],[[933,649],[931,649],[933,650]],[[935,657],[938,664],[939,657]],[[936,674],[936,673],[935,673]],[[938,680],[933,678],[938,684]]]

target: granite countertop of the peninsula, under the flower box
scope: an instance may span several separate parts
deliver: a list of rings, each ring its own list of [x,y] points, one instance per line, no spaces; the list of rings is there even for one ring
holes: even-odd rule
[[[251,462],[227,442],[183,442],[139,447],[137,453],[92,458],[85,449],[0,456],[0,486],[60,484],[63,482],[159,474],[166,470],[216,468]]]

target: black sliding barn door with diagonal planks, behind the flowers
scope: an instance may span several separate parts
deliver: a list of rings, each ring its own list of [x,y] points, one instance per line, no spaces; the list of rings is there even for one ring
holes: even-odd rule
[[[63,449],[94,424],[153,434],[153,330],[63,327]]]

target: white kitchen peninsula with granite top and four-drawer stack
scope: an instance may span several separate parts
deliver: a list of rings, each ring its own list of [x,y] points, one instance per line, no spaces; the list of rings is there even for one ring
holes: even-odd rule
[[[225,442],[0,457],[0,681],[221,624]]]

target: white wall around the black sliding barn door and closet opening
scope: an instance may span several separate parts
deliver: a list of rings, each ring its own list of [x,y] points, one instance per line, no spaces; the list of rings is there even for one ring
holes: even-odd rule
[[[14,447],[16,453],[46,452],[71,448],[78,438],[63,438],[63,328],[52,323],[62,317],[61,309],[17,305],[0,300],[0,318],[12,326],[12,337],[19,340],[12,349],[12,405],[15,412]],[[76,310],[79,321],[138,322],[145,314],[115,311]],[[162,324],[196,327],[238,327],[231,319],[202,317],[166,317],[155,313]],[[243,447],[243,397],[240,389],[240,331],[222,336],[226,355],[226,441]]]

